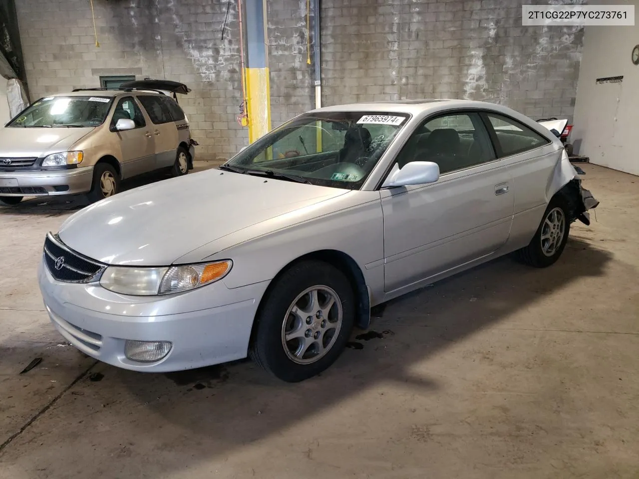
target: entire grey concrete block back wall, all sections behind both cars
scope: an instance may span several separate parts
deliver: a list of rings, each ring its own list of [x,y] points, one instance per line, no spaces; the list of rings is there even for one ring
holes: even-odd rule
[[[235,0],[93,3],[99,48],[88,1],[17,3],[33,98],[98,87],[101,75],[174,79],[193,90],[179,100],[200,159],[226,159],[247,144],[247,129],[236,121],[242,93]],[[532,118],[572,119],[581,29],[521,27],[515,0],[321,4],[323,105],[469,98]],[[306,8],[306,0],[268,0],[273,126],[314,107]],[[313,17],[311,11],[311,25]]]

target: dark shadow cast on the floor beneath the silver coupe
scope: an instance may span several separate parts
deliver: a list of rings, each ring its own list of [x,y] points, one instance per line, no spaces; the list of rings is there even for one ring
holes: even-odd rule
[[[185,468],[171,457],[189,457],[189,467],[199,460],[226,457],[235,448],[314,420],[371,387],[389,393],[396,386],[417,395],[436,392],[442,387],[436,378],[458,373],[429,374],[431,356],[498,326],[550,293],[562,301],[562,290],[583,278],[601,277],[611,258],[590,243],[570,239],[551,268],[528,268],[503,257],[397,298],[376,308],[378,317],[369,331],[354,331],[351,347],[330,369],[303,383],[282,383],[251,361],[171,374],[142,374],[98,363],[93,372],[104,375],[98,376],[100,382],[84,377],[74,386],[81,395],[72,397],[72,405],[61,401],[56,406],[55,420],[64,425],[56,441],[73,440],[76,446],[56,448],[50,455],[66,464],[90,453],[88,446],[84,450],[82,436],[91,436],[108,422],[117,425],[113,434],[119,439],[114,440],[127,439],[129,448],[139,445],[158,452],[151,469],[169,476]],[[552,321],[552,310],[548,318]],[[79,410],[84,411],[81,420]],[[56,447],[50,442],[40,446],[41,456],[47,455],[43,447]],[[171,453],[164,458],[160,451],[167,445]],[[125,470],[135,459],[119,460],[123,462],[117,468]],[[89,472],[87,464],[82,467]]]

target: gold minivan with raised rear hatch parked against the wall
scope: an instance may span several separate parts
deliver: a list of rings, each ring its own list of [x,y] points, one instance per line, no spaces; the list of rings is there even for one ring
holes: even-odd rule
[[[98,201],[122,179],[159,169],[187,174],[197,142],[175,94],[189,91],[139,80],[40,98],[0,128],[0,204],[73,194]]]

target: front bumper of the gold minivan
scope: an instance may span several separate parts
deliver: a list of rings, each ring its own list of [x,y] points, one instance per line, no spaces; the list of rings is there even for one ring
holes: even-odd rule
[[[92,181],[92,166],[68,170],[0,171],[0,195],[73,195],[91,190]]]

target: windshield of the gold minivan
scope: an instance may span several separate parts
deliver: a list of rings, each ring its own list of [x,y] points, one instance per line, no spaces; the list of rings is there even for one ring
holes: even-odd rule
[[[11,128],[82,128],[102,125],[112,98],[106,96],[49,96],[14,118]]]

